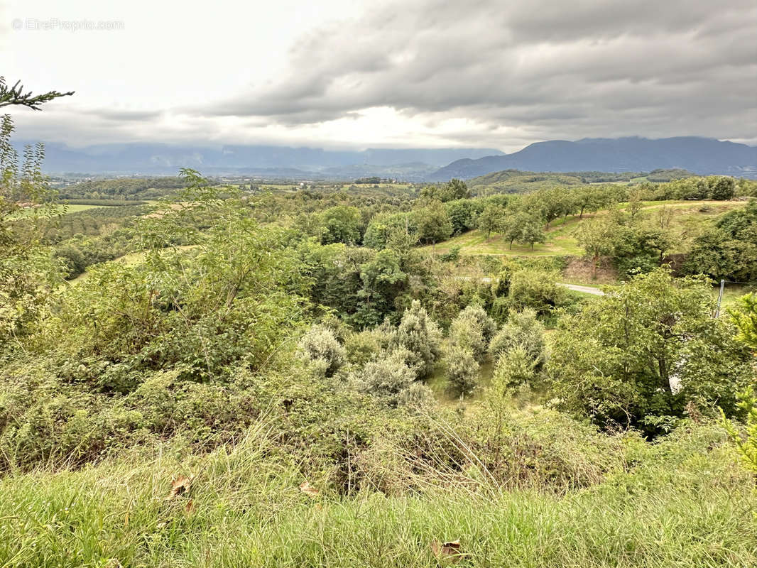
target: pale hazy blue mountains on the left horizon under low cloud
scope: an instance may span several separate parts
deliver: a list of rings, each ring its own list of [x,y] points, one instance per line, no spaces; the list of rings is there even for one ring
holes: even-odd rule
[[[422,178],[450,161],[501,154],[492,148],[369,148],[332,151],[286,146],[107,144],[71,148],[45,144],[46,172],[170,173],[192,167],[202,173],[269,173],[320,176],[392,175]]]

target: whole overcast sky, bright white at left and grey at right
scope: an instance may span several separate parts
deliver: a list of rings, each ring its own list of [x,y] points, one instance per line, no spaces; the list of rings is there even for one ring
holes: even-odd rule
[[[70,145],[757,144],[755,0],[0,0],[0,61]]]

